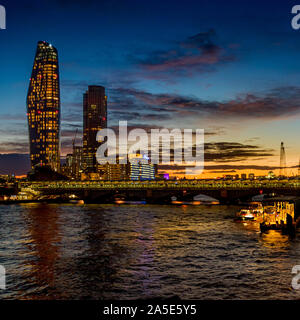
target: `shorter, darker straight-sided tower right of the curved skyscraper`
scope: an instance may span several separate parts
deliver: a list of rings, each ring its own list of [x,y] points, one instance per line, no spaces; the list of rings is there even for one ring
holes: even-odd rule
[[[89,86],[83,95],[83,162],[86,172],[97,172],[96,151],[100,146],[96,137],[107,127],[107,97],[102,86]]]

